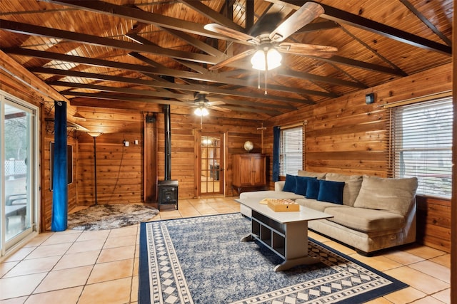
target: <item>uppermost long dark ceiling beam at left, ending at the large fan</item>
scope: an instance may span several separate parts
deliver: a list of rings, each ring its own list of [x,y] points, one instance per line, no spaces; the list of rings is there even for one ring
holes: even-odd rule
[[[54,4],[61,4],[64,6],[73,7],[76,9],[83,9],[85,11],[94,11],[99,14],[106,14],[109,16],[117,16],[126,19],[132,19],[140,21],[142,23],[154,24],[155,26],[172,28],[177,31],[186,31],[187,33],[194,33],[201,36],[206,36],[216,39],[224,39],[226,37],[206,31],[204,25],[200,23],[190,22],[182,19],[176,19],[161,14],[149,13],[147,11],[141,11],[134,7],[121,6],[116,4],[110,4],[104,1],[79,1],[79,0],[46,0]],[[233,40],[235,41],[235,40]],[[236,41],[242,43],[241,41]],[[248,44],[248,43],[246,43]]]

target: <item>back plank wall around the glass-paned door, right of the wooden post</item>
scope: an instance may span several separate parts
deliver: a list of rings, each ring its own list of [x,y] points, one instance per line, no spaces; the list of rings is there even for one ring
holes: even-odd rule
[[[199,117],[183,114],[171,108],[171,179],[179,182],[179,199],[196,197],[196,167],[199,159],[195,150],[195,141],[199,133],[216,133],[226,138],[224,154],[224,188],[225,195],[232,196],[235,192],[231,188],[231,154],[244,152],[243,144],[251,140],[257,150],[261,149],[261,132],[257,127],[261,122],[257,120],[243,119],[234,120],[233,117],[220,117],[221,113],[204,117],[200,125]],[[165,139],[164,139],[164,114],[157,113],[157,138],[158,142],[158,165],[159,180],[165,175]]]

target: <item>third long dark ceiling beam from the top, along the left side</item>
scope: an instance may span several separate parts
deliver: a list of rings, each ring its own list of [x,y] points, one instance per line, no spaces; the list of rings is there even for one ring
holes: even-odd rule
[[[94,65],[94,66],[103,66],[105,68],[119,68],[123,70],[133,70],[139,73],[152,73],[156,75],[167,75],[176,78],[189,78],[194,80],[201,80],[206,82],[213,82],[213,83],[224,83],[229,85],[241,85],[246,87],[248,83],[246,80],[239,80],[235,78],[225,78],[217,73],[192,73],[186,72],[184,70],[173,70],[170,68],[163,68],[163,67],[153,67],[153,66],[146,66],[146,65],[135,65],[131,63],[120,63],[115,61],[105,61],[103,59],[96,59],[96,58],[86,58],[80,56],[71,56],[66,54],[59,54],[59,53],[51,53],[46,51],[36,51],[26,48],[14,48],[14,49],[5,49],[5,53],[14,53],[16,55],[23,55],[23,56],[32,56],[37,58],[45,58],[45,59],[52,59],[52,60],[59,60],[59,61],[69,61],[74,63],[82,63],[87,65]],[[269,89],[271,90],[278,90],[282,92],[288,93],[299,93],[300,89],[297,88],[288,88],[280,85],[268,85]],[[251,85],[251,87],[255,87]],[[256,87],[255,87],[256,88]],[[317,92],[317,91],[316,91]],[[311,91],[308,91],[308,94]],[[317,92],[318,94],[321,94]],[[303,100],[301,100],[303,101]]]

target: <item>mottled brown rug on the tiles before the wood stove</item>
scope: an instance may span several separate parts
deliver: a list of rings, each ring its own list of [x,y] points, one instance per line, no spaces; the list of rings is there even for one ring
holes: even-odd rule
[[[68,229],[106,230],[151,221],[159,214],[152,206],[141,204],[95,205],[68,216]]]

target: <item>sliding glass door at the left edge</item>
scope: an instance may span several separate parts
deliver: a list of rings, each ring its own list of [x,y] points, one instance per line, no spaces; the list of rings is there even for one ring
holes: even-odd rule
[[[36,108],[0,92],[1,254],[36,231]]]

